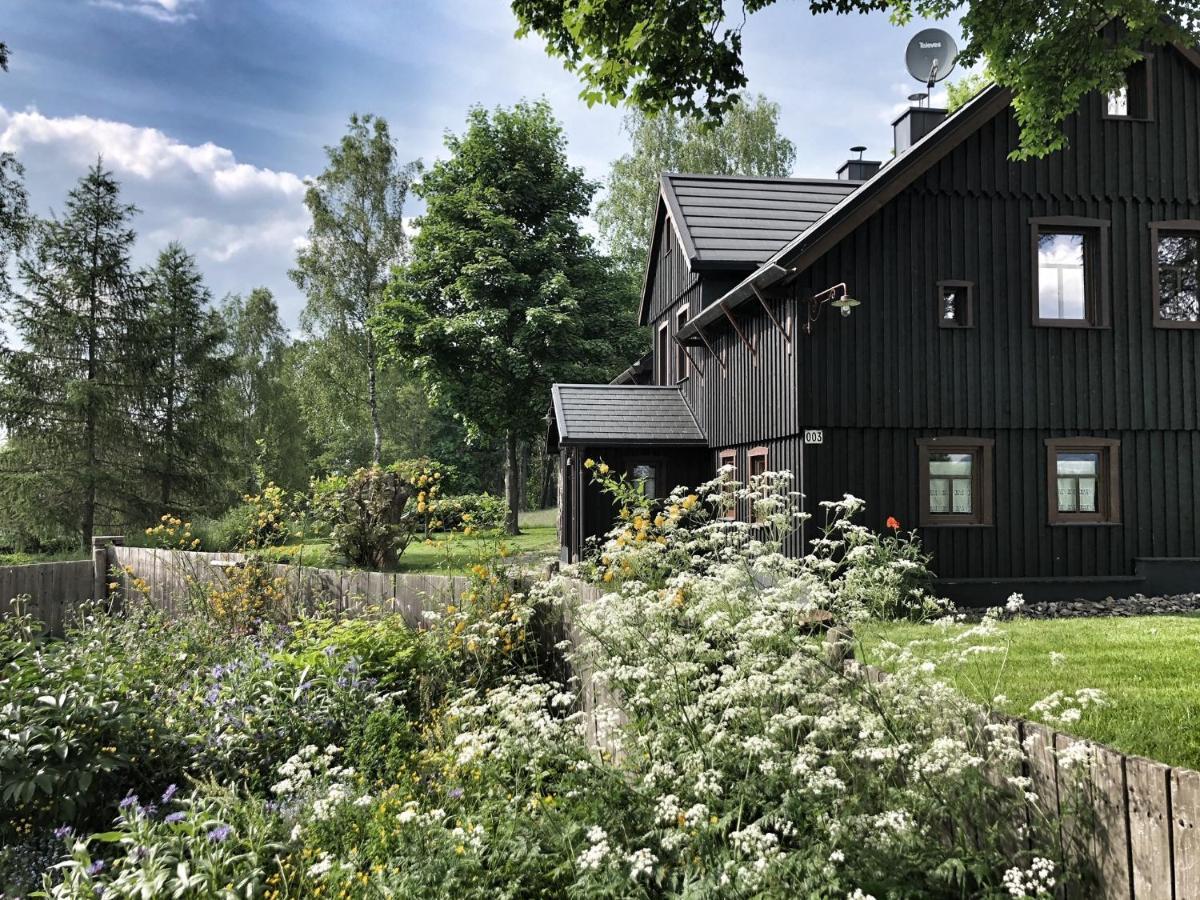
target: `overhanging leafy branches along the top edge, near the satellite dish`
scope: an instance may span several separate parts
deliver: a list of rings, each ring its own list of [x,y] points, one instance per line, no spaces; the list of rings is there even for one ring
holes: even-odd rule
[[[589,102],[628,101],[648,113],[678,109],[720,118],[746,85],[742,28],[776,0],[744,0],[727,19],[724,0],[512,0],[518,35],[538,32],[583,82]],[[1195,0],[809,0],[812,13],[958,16],[967,65],[986,60],[1013,91],[1021,125],[1016,156],[1061,148],[1062,121],[1093,90],[1117,89],[1145,43],[1200,40]],[[1102,28],[1121,19],[1118,35]],[[1180,24],[1184,23],[1184,24]]]

